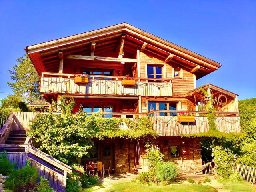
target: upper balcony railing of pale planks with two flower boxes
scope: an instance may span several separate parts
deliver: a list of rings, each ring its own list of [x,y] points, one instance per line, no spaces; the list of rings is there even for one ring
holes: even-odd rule
[[[170,79],[133,78],[134,86],[123,86],[121,76],[89,75],[89,82],[76,84],[74,74],[42,73],[40,92],[104,96],[172,96]]]

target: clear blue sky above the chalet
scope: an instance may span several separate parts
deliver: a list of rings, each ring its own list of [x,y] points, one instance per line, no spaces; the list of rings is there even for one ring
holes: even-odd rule
[[[220,62],[197,81],[256,97],[256,1],[0,0],[0,98],[24,47],[127,22]]]

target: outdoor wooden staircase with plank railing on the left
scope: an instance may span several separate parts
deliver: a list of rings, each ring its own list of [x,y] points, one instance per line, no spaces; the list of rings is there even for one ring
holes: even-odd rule
[[[6,158],[15,163],[16,168],[26,166],[29,161],[31,166],[36,167],[39,176],[47,179],[56,192],[65,192],[67,174],[72,172],[71,167],[30,145],[30,138],[26,137],[26,127],[23,124],[29,125],[35,116],[28,112],[29,117],[31,114],[32,118],[10,115],[0,130],[0,156],[3,151],[7,151]],[[24,121],[25,119],[28,120]]]

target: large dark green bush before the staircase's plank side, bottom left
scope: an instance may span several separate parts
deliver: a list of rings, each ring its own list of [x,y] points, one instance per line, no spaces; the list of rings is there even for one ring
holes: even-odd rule
[[[6,179],[5,187],[13,192],[32,191],[36,187],[38,172],[35,166],[30,166],[29,163],[22,169],[13,170],[9,178]]]

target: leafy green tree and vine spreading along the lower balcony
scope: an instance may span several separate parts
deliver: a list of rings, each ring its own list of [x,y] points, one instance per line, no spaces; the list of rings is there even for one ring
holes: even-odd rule
[[[82,108],[76,116],[72,116],[75,104],[73,98],[66,100],[63,96],[58,104],[60,110],[57,114],[52,110],[48,114],[38,114],[28,132],[28,136],[35,138],[40,150],[64,163],[72,164],[76,162],[76,158],[88,155],[88,150],[94,144],[93,138],[138,139],[150,134],[156,135],[149,118],[126,122],[130,129],[120,130],[120,125],[124,123],[122,118],[102,118],[102,113],[89,116]]]

